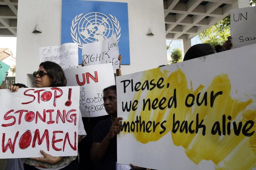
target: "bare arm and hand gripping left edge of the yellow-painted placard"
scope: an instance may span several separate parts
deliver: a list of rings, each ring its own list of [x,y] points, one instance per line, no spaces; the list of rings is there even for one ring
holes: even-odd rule
[[[115,137],[116,134],[118,134],[121,131],[122,124],[119,122],[119,120],[122,120],[123,118],[118,117],[115,119],[115,121],[112,123],[112,126],[108,132],[108,135],[104,137],[101,143],[93,143],[92,149],[91,149],[91,159],[94,162],[99,162],[103,159],[105,156],[108,146],[110,143],[111,138]]]

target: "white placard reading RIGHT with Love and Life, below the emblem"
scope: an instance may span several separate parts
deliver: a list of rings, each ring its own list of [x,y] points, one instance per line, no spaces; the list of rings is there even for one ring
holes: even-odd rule
[[[113,69],[119,69],[118,43],[113,35],[104,41],[83,44],[82,59],[84,65],[112,63]]]

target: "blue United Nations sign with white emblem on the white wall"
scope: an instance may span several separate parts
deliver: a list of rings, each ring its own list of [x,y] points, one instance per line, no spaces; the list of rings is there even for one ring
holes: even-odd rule
[[[119,2],[62,0],[61,44],[78,44],[82,63],[83,44],[116,36],[122,64],[130,64],[128,5]]]

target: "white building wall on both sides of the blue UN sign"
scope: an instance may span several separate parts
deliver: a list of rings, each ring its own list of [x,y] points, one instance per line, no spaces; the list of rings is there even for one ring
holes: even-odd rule
[[[163,1],[101,1],[128,3],[131,64],[122,65],[123,75],[167,64]],[[32,33],[36,24],[42,33]],[[32,86],[38,48],[60,45],[61,0],[19,0],[17,27],[16,82]],[[146,35],[149,28],[154,36]]]

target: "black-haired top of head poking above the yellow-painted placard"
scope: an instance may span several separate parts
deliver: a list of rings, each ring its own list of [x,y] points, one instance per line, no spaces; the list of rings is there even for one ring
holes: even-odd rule
[[[183,61],[216,53],[210,44],[196,44],[188,49]]]

